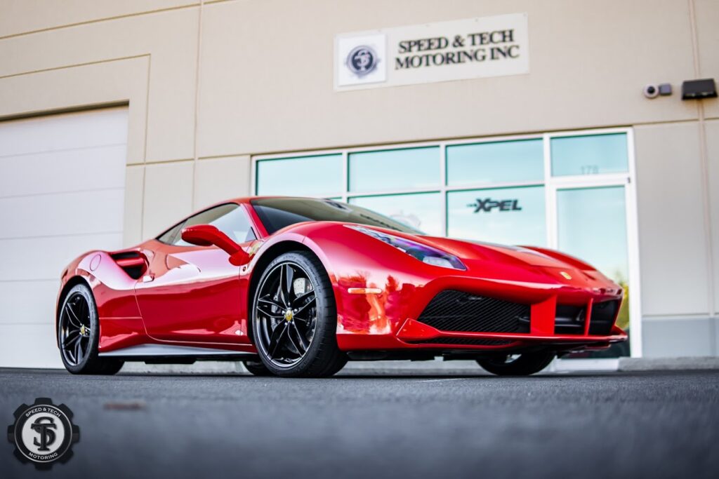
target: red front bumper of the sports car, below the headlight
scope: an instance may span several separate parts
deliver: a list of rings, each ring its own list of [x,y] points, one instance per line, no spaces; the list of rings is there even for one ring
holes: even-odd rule
[[[580,271],[572,273],[578,276]],[[347,351],[510,351],[537,346],[559,351],[603,349],[626,340],[626,332],[614,324],[623,295],[620,287],[601,279],[583,281],[584,284],[562,284],[441,276],[421,286],[404,284],[395,289],[385,287],[380,294],[362,294],[359,297],[347,294],[346,289],[343,293],[340,287],[338,304],[343,307],[338,307],[337,342],[342,350]],[[492,299],[493,309],[487,310],[492,320],[482,322],[482,318],[477,316],[477,320],[472,321],[472,313],[466,311],[456,322],[427,320],[426,310],[432,309],[433,300],[447,291]],[[597,327],[600,319],[597,305],[610,302],[615,304],[611,317],[602,312],[605,316],[601,318],[602,327]],[[503,311],[497,304],[516,307]],[[576,324],[572,324],[571,334],[567,333],[566,318],[560,313],[567,308],[582,315],[577,316]],[[449,304],[446,310],[447,315],[453,312]],[[434,317],[441,315],[436,308],[433,313]],[[597,315],[595,322],[592,322],[592,313]],[[511,315],[526,316],[517,321],[524,327],[512,327]]]

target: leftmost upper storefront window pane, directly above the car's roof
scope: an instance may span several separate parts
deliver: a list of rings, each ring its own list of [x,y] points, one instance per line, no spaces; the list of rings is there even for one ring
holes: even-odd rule
[[[330,196],[344,191],[342,154],[262,159],[257,195]]]

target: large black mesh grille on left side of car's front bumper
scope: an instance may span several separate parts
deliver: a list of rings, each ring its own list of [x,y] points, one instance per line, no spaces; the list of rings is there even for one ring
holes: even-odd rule
[[[417,318],[441,331],[529,332],[528,304],[446,289]]]

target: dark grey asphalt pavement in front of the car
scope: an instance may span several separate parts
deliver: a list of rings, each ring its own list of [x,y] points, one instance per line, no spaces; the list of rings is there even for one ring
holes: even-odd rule
[[[49,472],[4,442],[2,478],[719,477],[719,371],[280,379],[0,369],[6,424],[36,397],[69,406],[81,440]]]

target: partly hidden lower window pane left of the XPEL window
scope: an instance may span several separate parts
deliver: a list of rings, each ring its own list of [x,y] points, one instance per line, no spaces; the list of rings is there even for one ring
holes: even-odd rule
[[[432,192],[353,197],[349,203],[377,211],[429,235],[441,236],[440,200],[440,193]]]

